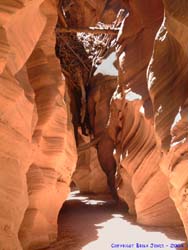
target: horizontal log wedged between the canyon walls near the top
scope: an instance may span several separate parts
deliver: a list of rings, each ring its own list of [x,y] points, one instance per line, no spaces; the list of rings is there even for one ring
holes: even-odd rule
[[[101,28],[57,28],[57,32],[59,33],[91,33],[91,34],[107,34],[107,35],[117,35],[119,32],[118,28],[114,29],[101,29]]]

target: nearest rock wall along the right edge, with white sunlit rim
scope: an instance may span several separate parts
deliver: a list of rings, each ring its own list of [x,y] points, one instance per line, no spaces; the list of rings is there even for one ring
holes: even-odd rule
[[[165,18],[148,69],[161,169],[188,235],[188,2],[164,0]]]

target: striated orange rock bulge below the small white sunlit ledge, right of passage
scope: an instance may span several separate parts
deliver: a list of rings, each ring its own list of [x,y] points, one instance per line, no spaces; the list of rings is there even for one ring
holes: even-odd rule
[[[117,190],[144,225],[181,224],[169,197],[167,179],[160,170],[160,150],[152,123],[145,118],[142,101],[131,93],[114,93],[111,103],[109,134],[116,149]]]

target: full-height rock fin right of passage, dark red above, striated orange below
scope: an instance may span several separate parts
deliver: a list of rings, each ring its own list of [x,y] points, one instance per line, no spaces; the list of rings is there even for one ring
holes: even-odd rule
[[[115,144],[117,190],[139,223],[178,225],[181,220],[160,169],[162,154],[156,141],[146,78],[163,19],[163,4],[158,0],[135,0],[127,1],[127,8],[129,16],[118,39],[119,87],[112,97],[108,127]]]

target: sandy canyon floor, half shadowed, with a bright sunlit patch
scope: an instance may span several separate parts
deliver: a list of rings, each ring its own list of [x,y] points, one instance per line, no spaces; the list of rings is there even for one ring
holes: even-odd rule
[[[185,249],[181,247],[186,240],[182,226],[139,226],[134,216],[103,194],[72,191],[58,224],[58,240],[43,250]]]

